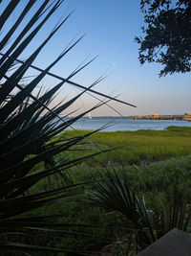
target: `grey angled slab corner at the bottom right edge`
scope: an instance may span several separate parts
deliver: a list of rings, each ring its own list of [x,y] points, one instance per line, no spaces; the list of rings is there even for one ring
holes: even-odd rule
[[[174,228],[138,256],[191,256],[191,235]]]

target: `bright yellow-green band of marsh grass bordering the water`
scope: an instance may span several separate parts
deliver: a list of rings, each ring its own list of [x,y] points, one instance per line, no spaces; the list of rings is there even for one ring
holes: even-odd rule
[[[85,133],[85,131],[69,133],[75,132]],[[103,150],[121,147],[87,161],[89,166],[94,167],[106,166],[109,161],[116,165],[147,164],[170,157],[180,157],[191,152],[191,128],[169,127],[166,130],[97,132],[91,139]],[[90,149],[94,151],[93,147],[86,147],[89,147],[89,151]],[[70,152],[71,156],[75,154],[75,151]],[[80,155],[83,154],[85,154],[84,151],[80,152]]]

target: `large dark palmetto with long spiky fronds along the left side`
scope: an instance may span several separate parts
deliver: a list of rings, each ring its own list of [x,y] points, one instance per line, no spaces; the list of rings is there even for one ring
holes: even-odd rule
[[[35,7],[36,2],[38,3],[37,7]],[[63,176],[65,171],[70,167],[96,155],[100,151],[83,157],[76,156],[73,159],[67,156],[67,151],[72,150],[76,144],[89,137],[93,132],[89,132],[83,136],[66,137],[65,139],[62,137],[62,140],[52,139],[59,132],[72,126],[76,120],[90,110],[96,109],[98,106],[107,103],[107,101],[115,100],[123,103],[93,89],[93,86],[103,79],[102,77],[89,87],[71,81],[75,74],[85,68],[94,59],[75,69],[66,79],[51,73],[51,68],[61,58],[65,57],[83,36],[76,39],[76,41],[62,51],[58,58],[55,58],[53,63],[45,69],[41,69],[32,64],[33,60],[38,56],[57,30],[65,24],[71,13],[55,25],[50,35],[42,40],[40,46],[33,50],[29,58],[25,60],[19,58],[25,53],[26,47],[31,43],[35,35],[40,32],[43,25],[51,18],[53,12],[60,7],[62,2],[63,0],[25,1],[25,6],[20,6],[20,13],[16,17],[15,23],[6,33],[3,28],[8,22],[11,13],[20,4],[20,0],[7,2],[8,5],[0,16],[1,251],[3,249],[13,251],[56,251],[55,248],[35,246],[35,244],[19,244],[19,236],[31,236],[35,231],[46,232],[49,230],[56,232],[57,228],[59,228],[59,232],[66,233],[64,228],[67,225],[54,223],[51,221],[53,216],[49,218],[47,216],[30,217],[28,215],[28,217],[24,218],[22,214],[43,205],[53,204],[56,200],[64,198],[68,191],[80,184],[69,184],[58,188],[50,188],[48,191],[40,191],[34,194],[30,193],[30,189],[45,177],[51,177],[55,174]],[[34,7],[35,10],[32,9]],[[29,15],[31,9],[34,11]],[[27,24],[23,23],[25,16],[29,17]],[[20,26],[22,29],[20,29]],[[16,32],[17,34],[15,34]],[[12,37],[13,34],[14,37]],[[39,73],[24,86],[22,81],[25,80],[26,72],[29,73],[31,69],[35,69]],[[52,76],[60,80],[60,82],[57,83],[53,89],[50,89],[44,94],[35,94],[34,88],[39,85],[39,82],[42,81],[45,76]],[[70,83],[78,87],[81,89],[81,92],[68,102],[50,107],[54,95],[64,83]],[[71,119],[65,120],[63,117],[61,118],[59,116],[61,112],[67,112],[68,107],[73,105],[82,94],[87,92],[94,94],[96,99],[98,99],[98,96],[102,96],[106,97],[107,100],[99,101],[92,109],[88,109],[88,111],[84,111]],[[60,152],[62,152],[62,161],[58,162],[54,156]],[[42,162],[45,163],[44,168],[41,167],[39,171],[34,171],[34,167]],[[16,236],[18,241],[12,241],[12,236]]]

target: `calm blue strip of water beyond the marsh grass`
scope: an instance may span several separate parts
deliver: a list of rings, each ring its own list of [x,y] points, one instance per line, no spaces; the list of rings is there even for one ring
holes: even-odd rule
[[[73,128],[75,129],[97,129],[107,126],[103,131],[138,130],[138,129],[164,129],[169,126],[191,127],[191,122],[178,120],[132,120],[131,118],[117,117],[93,117],[81,118]]]

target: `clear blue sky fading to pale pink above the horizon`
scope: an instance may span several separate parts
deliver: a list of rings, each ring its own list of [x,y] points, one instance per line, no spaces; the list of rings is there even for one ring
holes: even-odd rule
[[[4,0],[2,7],[8,2]],[[21,0],[18,9],[11,16],[10,26],[15,22],[17,14],[26,2]],[[36,6],[41,2],[37,1]],[[146,63],[141,66],[138,61],[138,44],[134,38],[136,35],[141,35],[140,27],[144,25],[139,2],[139,0],[65,0],[39,35],[32,40],[23,58],[30,56],[34,47],[51,32],[60,17],[65,17],[74,10],[69,20],[35,59],[35,65],[45,68],[71,40],[85,34],[76,47],[53,67],[51,71],[54,74],[66,78],[84,59],[89,60],[98,55],[96,60],[77,74],[72,81],[89,86],[97,78],[107,74],[107,78],[97,84],[95,89],[114,97],[119,95],[118,99],[137,105],[135,108],[110,102],[109,105],[123,116],[150,114],[153,110],[159,114],[183,114],[191,110],[191,74],[175,74],[159,78],[161,69],[159,64]],[[6,31],[6,28],[4,30]],[[46,77],[42,85],[44,88],[50,88],[57,82]],[[79,90],[74,86],[64,85],[55,103],[70,99],[78,92]],[[97,100],[86,95],[70,111],[87,110],[96,104]],[[101,106],[92,113],[92,116],[117,115],[117,112],[107,105]]]

